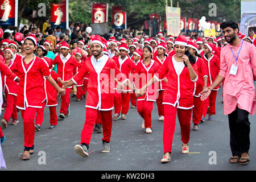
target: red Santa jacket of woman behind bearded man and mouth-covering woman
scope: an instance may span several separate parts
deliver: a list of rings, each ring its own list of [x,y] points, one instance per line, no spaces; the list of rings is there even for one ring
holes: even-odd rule
[[[134,72],[135,87],[138,89],[142,88],[142,86],[144,86],[145,84],[147,84],[148,81],[151,80],[151,78],[155,75],[159,68],[160,65],[153,59],[151,59],[150,64],[148,64],[147,66],[143,63],[143,60],[139,61]],[[155,82],[146,89],[146,93],[144,93],[143,96],[138,97],[138,101],[156,101],[156,98],[158,97],[157,90],[158,82]]]

